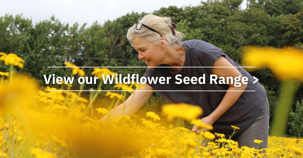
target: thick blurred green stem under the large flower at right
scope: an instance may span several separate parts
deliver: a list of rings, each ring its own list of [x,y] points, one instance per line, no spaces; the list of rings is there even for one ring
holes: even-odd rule
[[[271,127],[272,136],[283,136],[285,134],[292,100],[297,89],[297,81],[289,80],[282,82],[281,93]]]

